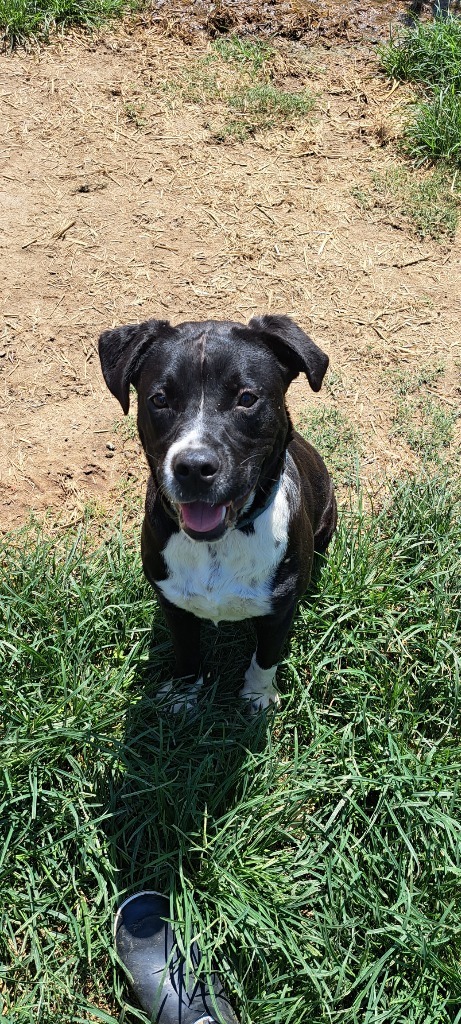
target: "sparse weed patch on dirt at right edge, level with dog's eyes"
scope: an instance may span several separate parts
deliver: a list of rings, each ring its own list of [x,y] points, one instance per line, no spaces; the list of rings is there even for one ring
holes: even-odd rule
[[[454,426],[459,417],[432,397],[417,397],[410,403],[404,397],[397,401],[393,417],[393,433],[402,437],[424,464],[442,464],[453,441]]]

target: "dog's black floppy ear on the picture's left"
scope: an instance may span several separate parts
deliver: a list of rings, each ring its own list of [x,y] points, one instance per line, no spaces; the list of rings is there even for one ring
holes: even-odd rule
[[[168,321],[145,321],[103,331],[99,338],[99,359],[109,390],[123,412],[130,408],[130,384],[136,384],[145,356],[161,331],[172,330]]]

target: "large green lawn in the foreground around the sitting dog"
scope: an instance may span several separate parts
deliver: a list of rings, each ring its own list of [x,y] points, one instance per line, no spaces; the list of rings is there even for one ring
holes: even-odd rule
[[[206,631],[223,690],[190,720],[159,708],[171,647],[137,538],[7,540],[5,1020],[144,1020],[120,1016],[112,920],[145,886],[171,893],[242,1024],[459,1024],[459,512],[443,477],[343,513],[275,720],[236,701],[237,626]]]

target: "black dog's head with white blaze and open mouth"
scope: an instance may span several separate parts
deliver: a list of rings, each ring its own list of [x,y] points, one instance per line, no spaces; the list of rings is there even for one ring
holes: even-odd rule
[[[305,373],[322,386],[328,356],[288,316],[229,321],[148,321],[104,331],[106,383],[137,425],[151,470],[179,525],[217,540],[270,488],[291,436],[288,385]]]

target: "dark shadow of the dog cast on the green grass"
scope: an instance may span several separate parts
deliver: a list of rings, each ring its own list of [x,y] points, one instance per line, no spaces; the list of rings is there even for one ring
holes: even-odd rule
[[[156,608],[124,736],[101,780],[120,896],[168,894],[200,874],[219,820],[241,799],[249,762],[267,741],[270,713],[251,718],[237,695],[254,649],[251,628],[205,624],[203,648],[208,678],[198,703],[174,714],[174,694],[158,693],[171,676],[171,647]]]

